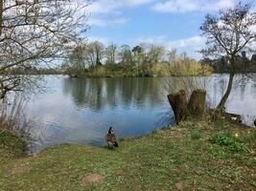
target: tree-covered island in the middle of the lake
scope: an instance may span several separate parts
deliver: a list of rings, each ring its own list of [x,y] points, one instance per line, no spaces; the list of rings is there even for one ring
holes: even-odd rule
[[[202,65],[187,53],[177,54],[163,46],[143,43],[133,48],[128,45],[107,47],[95,41],[76,46],[63,62],[65,74],[77,76],[170,76],[208,75],[212,68]]]

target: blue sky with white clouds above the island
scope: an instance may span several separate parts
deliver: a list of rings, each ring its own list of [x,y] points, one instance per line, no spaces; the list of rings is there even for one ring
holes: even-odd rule
[[[244,1],[243,1],[244,2]],[[90,13],[86,33],[90,41],[113,42],[130,47],[153,43],[176,48],[200,58],[204,45],[199,26],[206,13],[233,7],[237,0],[97,0]]]

